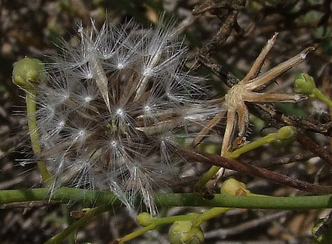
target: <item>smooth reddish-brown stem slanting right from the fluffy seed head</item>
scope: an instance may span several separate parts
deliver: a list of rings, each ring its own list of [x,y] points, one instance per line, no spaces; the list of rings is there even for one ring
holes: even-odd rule
[[[234,159],[225,158],[211,153],[201,152],[193,148],[176,147],[175,150],[177,151],[177,153],[179,153],[179,155],[190,161],[208,163],[226,169],[236,170],[246,175],[257,176],[298,190],[318,194],[332,193],[332,186],[311,184],[251,164],[244,164]]]

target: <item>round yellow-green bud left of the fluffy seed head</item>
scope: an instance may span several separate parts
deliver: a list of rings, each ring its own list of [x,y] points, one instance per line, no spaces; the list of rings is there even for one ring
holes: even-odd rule
[[[25,90],[33,89],[32,83],[45,82],[47,80],[45,66],[36,58],[24,58],[19,60],[12,71],[12,82]]]

